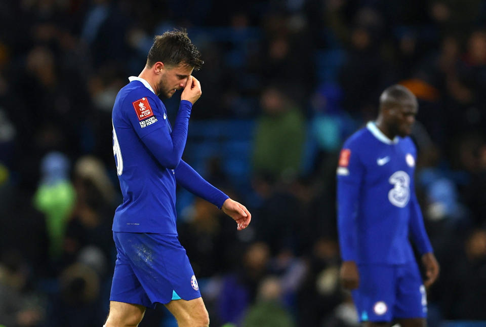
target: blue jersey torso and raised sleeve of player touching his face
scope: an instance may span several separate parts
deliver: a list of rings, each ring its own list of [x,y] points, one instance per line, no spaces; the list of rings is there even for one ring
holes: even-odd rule
[[[181,101],[179,116],[185,115],[181,120],[186,133],[179,142],[182,145],[178,145],[182,150],[191,106],[190,102]],[[176,234],[174,168],[178,161],[162,165],[147,146],[154,137],[160,146],[167,144],[171,149],[176,146],[164,104],[146,80],[130,77],[130,83],[116,96],[112,122],[113,153],[123,194],[123,203],[113,218],[113,231]]]

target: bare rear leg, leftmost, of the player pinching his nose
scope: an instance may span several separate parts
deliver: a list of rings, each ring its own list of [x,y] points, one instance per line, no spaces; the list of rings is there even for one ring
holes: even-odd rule
[[[106,327],[137,326],[144,314],[143,305],[110,301],[110,312],[105,325]]]

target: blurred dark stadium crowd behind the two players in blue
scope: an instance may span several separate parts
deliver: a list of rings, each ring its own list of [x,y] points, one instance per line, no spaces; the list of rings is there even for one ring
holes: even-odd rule
[[[0,325],[104,323],[111,109],[176,27],[205,61],[183,158],[253,215],[236,232],[178,190],[212,326],[358,325],[338,282],[337,153],[395,83],[420,105],[417,193],[441,265],[429,325],[485,326],[485,23],[480,0],[0,1]],[[140,326],[176,323],[159,305]]]

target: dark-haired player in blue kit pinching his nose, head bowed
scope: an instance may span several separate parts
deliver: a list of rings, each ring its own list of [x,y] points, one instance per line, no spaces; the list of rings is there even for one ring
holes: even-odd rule
[[[117,256],[106,327],[137,326],[146,307],[163,303],[179,326],[208,326],[209,316],[176,229],[176,183],[248,226],[245,206],[181,159],[192,105],[201,95],[191,76],[203,61],[184,31],[156,36],[138,77],[113,105],[113,152],[123,203],[113,218]],[[157,96],[183,89],[174,125]]]

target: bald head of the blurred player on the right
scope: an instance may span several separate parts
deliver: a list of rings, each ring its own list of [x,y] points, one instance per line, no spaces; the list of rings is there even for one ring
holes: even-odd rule
[[[380,96],[380,113],[377,124],[390,138],[404,137],[412,132],[418,102],[409,89],[401,85],[387,88]]]

